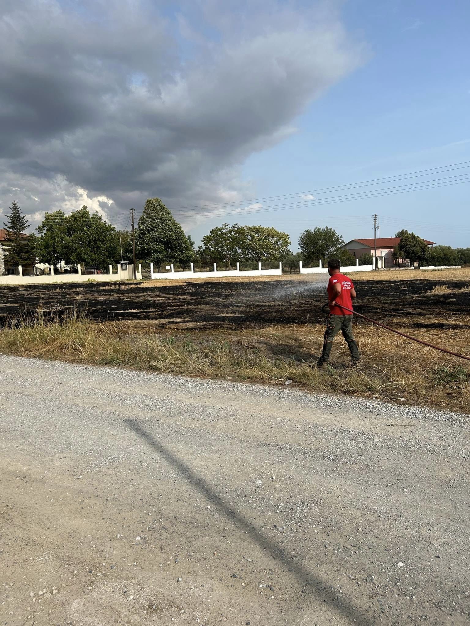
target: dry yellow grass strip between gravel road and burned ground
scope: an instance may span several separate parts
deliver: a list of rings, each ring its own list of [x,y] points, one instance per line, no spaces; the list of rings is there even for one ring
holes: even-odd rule
[[[357,327],[363,366],[347,366],[343,339],[335,340],[330,372],[315,369],[323,326],[243,331],[155,331],[128,322],[97,324],[71,313],[65,320],[26,319],[0,331],[0,351],[76,363],[123,366],[188,376],[285,384],[308,390],[360,394],[470,413],[470,368],[465,361],[410,343],[381,329]],[[429,331],[426,334],[433,341]],[[417,333],[419,337],[419,333]],[[464,334],[439,332],[434,342],[469,354]]]

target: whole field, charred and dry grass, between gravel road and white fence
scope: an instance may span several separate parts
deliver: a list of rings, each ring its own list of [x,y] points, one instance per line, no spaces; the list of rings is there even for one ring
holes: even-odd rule
[[[361,272],[352,277],[357,312],[470,356],[470,269]],[[358,317],[362,368],[348,367],[347,347],[338,337],[330,374],[316,371],[326,319],[321,313],[326,279],[320,274],[0,287],[4,326],[21,317],[25,306],[29,310],[26,326],[0,332],[0,351],[266,384],[291,380],[306,389],[439,404],[470,413],[467,361]],[[51,317],[58,323],[50,323]]]

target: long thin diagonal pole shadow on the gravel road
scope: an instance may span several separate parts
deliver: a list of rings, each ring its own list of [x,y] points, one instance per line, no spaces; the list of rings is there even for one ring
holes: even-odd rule
[[[237,511],[234,511],[232,508],[227,506],[222,498],[218,496],[217,493],[212,491],[211,485],[204,480],[204,478],[194,473],[194,471],[192,471],[187,464],[177,458],[177,456],[164,446],[164,444],[158,441],[158,439],[155,439],[151,434],[147,433],[147,431],[145,431],[137,423],[137,421],[133,419],[127,419],[126,421],[129,428],[135,434],[138,434],[138,436],[144,439],[144,441],[157,453],[159,453],[160,456],[162,456],[175,469],[182,473],[191,485],[195,486],[204,496],[206,496],[208,501],[224,511],[225,515],[231,521],[238,524],[239,528],[246,532],[255,543],[258,543],[260,548],[266,550],[266,552],[280,562],[281,565],[288,570],[288,572],[293,573],[301,585],[306,588],[306,591],[310,592],[311,595],[315,595],[320,602],[325,603],[335,612],[348,618],[351,623],[355,623],[357,626],[372,626],[373,622],[371,622],[367,617],[360,615],[347,600],[344,598],[337,598],[336,595],[328,591],[328,586],[330,586],[328,581],[314,577],[311,572],[306,570],[306,568],[300,565],[300,563],[296,563],[292,557],[286,555],[284,550],[279,548],[278,545],[275,545],[264,537],[256,526],[253,526],[253,524],[240,515],[240,513],[237,513]]]

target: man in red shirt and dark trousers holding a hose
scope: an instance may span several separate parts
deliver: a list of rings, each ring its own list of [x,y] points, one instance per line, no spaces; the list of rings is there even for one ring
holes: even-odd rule
[[[323,339],[323,352],[318,359],[318,369],[326,370],[326,363],[330,359],[333,339],[338,332],[343,333],[351,352],[351,364],[356,366],[360,361],[360,354],[357,343],[352,332],[352,301],[356,297],[356,291],[352,280],[341,274],[341,262],[338,259],[328,261],[328,304],[330,305],[330,316],[326,322],[325,337]],[[344,307],[344,308],[342,308]]]

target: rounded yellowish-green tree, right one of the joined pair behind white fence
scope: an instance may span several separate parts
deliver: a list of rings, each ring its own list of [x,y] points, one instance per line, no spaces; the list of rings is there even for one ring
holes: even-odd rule
[[[237,229],[241,259],[283,261],[290,254],[288,233],[266,226],[240,226]]]

